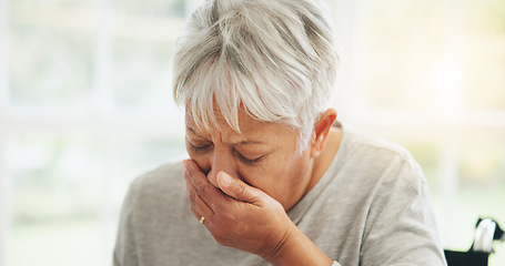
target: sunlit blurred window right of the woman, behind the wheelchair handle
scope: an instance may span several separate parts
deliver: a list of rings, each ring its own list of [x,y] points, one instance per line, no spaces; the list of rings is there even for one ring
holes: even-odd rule
[[[444,248],[468,249],[477,217],[505,223],[505,2],[335,1],[333,10],[340,116],[413,153]],[[489,265],[505,264],[495,247]]]

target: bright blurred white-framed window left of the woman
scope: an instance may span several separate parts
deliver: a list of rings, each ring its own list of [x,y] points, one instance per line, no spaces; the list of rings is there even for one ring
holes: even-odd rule
[[[195,2],[0,2],[0,265],[110,265],[131,180],[184,154],[171,51]]]

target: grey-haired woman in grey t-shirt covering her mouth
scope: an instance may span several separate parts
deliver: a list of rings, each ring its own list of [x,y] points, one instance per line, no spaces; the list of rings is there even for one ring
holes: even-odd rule
[[[190,160],[133,182],[114,265],[444,265],[426,181],[329,108],[312,0],[210,0],[174,59]]]

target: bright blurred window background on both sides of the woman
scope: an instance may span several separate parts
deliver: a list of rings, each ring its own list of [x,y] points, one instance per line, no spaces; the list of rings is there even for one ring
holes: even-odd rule
[[[200,2],[0,0],[0,266],[111,264],[129,183],[185,153],[172,49]],[[444,248],[505,226],[505,1],[326,2],[339,115],[413,153]]]

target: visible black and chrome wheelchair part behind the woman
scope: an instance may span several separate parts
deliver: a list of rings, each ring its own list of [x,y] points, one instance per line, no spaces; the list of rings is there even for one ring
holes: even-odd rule
[[[478,218],[474,243],[467,252],[444,250],[447,266],[487,266],[494,241],[505,241],[498,223],[491,218]]]

